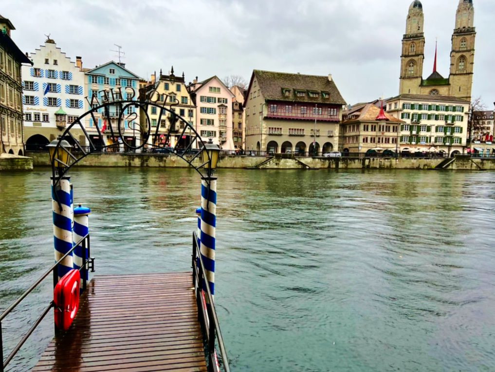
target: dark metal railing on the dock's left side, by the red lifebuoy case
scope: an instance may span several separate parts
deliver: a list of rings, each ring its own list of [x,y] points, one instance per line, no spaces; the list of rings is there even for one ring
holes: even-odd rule
[[[65,257],[67,257],[69,254],[71,254],[74,249],[78,246],[81,246],[83,248],[83,252],[86,252],[86,248],[88,248],[88,258],[86,261],[83,263],[81,268],[79,268],[79,271],[81,272],[81,277],[83,279],[83,287],[82,291],[84,292],[86,290],[86,277],[88,270],[91,269],[91,272],[95,271],[95,258],[91,257],[91,251],[90,251],[90,235],[86,235],[83,237],[79,242],[74,244],[74,246],[67,252],[65,253],[57,262],[55,262],[31,287],[29,287],[17,300],[15,300],[12,305],[10,305],[7,310],[3,311],[0,315],[0,356],[1,356],[1,361],[2,363],[0,364],[0,372],[3,372],[5,370],[5,367],[9,364],[9,362],[14,358],[14,356],[17,354],[17,352],[20,350],[22,345],[26,342],[26,340],[31,336],[31,334],[34,332],[36,327],[41,323],[43,318],[48,314],[49,310],[54,307],[53,300],[50,301],[50,304],[48,305],[45,310],[43,310],[42,314],[36,319],[34,324],[29,328],[27,333],[22,337],[22,339],[17,343],[17,345],[12,349],[10,354],[8,355],[7,359],[3,360],[3,334],[2,334],[2,328],[1,328],[1,322],[3,319],[12,311],[14,310],[17,305],[21,303],[22,300],[24,300],[40,283],[46,279],[47,276],[49,276],[50,273],[53,273],[53,288],[55,288],[56,284],[58,283],[58,265],[60,262],[62,262]],[[57,328],[55,327],[55,334],[58,333]]]

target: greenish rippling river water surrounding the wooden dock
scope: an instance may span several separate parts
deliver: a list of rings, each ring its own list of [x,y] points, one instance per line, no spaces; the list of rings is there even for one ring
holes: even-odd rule
[[[190,270],[199,176],[75,169],[99,274]],[[0,173],[0,309],[53,261],[49,170]],[[495,177],[218,171],[216,294],[233,371],[494,371]],[[50,279],[3,323],[5,353]],[[51,313],[50,313],[51,314]],[[32,367],[51,315],[12,362]]]

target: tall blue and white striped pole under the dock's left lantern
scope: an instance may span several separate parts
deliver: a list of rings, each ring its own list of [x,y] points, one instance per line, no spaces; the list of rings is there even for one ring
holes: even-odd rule
[[[55,198],[58,197],[60,206]],[[55,247],[55,262],[72,249],[72,190],[70,177],[64,176],[59,184],[53,186],[51,178],[51,203],[53,209],[53,244]],[[65,257],[58,265],[58,280],[73,268],[72,253]]]

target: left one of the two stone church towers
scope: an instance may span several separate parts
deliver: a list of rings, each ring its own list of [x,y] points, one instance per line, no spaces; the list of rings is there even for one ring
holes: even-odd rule
[[[414,0],[409,6],[400,56],[399,94],[419,94],[425,58],[423,5]]]

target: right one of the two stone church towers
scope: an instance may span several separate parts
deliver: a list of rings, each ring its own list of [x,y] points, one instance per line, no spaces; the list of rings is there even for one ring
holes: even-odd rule
[[[473,86],[475,38],[473,0],[460,0],[455,15],[455,29],[452,34],[449,95],[469,102],[471,102]]]

